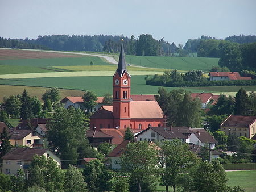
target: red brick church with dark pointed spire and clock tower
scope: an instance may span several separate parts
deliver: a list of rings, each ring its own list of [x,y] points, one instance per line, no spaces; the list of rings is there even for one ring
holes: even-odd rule
[[[131,76],[126,69],[123,40],[118,67],[113,75],[113,104],[102,106],[90,118],[90,128],[131,128],[144,130],[148,127],[165,126],[164,114],[158,102],[135,97],[131,93]],[[140,99],[133,99],[140,98]],[[144,98],[144,99],[143,99]]]

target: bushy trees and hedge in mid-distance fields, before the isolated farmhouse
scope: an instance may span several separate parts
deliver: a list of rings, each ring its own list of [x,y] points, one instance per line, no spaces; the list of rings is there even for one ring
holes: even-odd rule
[[[152,78],[146,76],[145,79],[147,85],[166,87],[256,85],[256,80],[209,81],[209,78],[203,77],[200,70],[191,70],[185,74],[177,70],[167,70],[163,74],[155,74]]]

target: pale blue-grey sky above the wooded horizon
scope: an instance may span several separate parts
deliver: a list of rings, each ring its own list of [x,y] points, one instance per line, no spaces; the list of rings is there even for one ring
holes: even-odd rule
[[[256,35],[256,0],[0,0],[0,37],[53,34],[151,34],[183,45]]]

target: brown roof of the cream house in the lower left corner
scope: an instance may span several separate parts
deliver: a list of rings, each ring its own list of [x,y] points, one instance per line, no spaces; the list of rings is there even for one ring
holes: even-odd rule
[[[48,150],[49,149],[39,148],[14,148],[10,152],[6,153],[2,159],[32,161],[35,155],[42,156]]]

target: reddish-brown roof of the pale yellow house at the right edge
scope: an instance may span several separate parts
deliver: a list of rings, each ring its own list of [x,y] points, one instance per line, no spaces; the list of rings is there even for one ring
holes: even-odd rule
[[[243,116],[243,115],[230,115],[221,124],[222,127],[249,127],[251,123],[254,123],[256,116]]]

